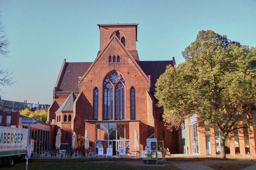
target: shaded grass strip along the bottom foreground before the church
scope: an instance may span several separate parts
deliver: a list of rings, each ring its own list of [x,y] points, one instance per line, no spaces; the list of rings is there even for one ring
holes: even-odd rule
[[[13,167],[0,166],[0,170],[24,170],[26,162],[16,163]],[[58,162],[29,162],[28,170],[113,170],[113,169],[122,169],[122,170],[154,170],[154,169],[163,169],[163,170],[179,170],[178,168],[166,163],[166,164],[153,164],[147,165],[143,162],[71,162],[71,161],[58,161]]]

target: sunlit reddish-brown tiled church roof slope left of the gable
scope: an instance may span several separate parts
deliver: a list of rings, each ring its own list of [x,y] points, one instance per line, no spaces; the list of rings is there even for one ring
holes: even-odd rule
[[[65,62],[57,82],[56,92],[78,92],[78,79],[82,77],[92,62]]]

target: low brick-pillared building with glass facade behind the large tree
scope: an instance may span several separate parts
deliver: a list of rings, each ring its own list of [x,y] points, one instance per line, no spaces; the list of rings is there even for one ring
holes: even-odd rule
[[[249,128],[241,128],[241,127]],[[254,127],[253,127],[254,126]],[[256,111],[244,114],[225,139],[225,152],[229,157],[256,157]],[[221,154],[218,126],[197,122],[196,115],[185,120],[180,129],[180,148],[185,154],[216,156]]]

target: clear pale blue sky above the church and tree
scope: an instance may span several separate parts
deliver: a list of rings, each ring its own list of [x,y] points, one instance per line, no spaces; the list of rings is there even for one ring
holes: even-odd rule
[[[51,104],[63,60],[96,58],[97,24],[139,23],[142,61],[184,62],[181,52],[200,30],[256,46],[255,0],[0,0],[0,10],[11,51],[0,63],[16,81],[0,95],[18,102]]]

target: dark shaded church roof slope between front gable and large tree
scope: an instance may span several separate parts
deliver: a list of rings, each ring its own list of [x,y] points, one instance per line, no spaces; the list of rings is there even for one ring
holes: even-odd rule
[[[174,67],[173,60],[167,61],[139,61],[141,69],[144,73],[149,76],[151,80],[150,91],[155,91],[155,84],[157,79],[163,74],[166,70],[166,66],[171,64]]]

